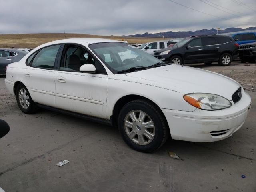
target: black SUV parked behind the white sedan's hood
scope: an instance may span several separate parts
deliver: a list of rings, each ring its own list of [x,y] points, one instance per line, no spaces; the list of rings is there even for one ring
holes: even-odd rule
[[[238,43],[229,36],[192,36],[174,44],[171,48],[156,51],[154,56],[163,62],[178,65],[218,62],[228,66],[238,57],[238,46]]]

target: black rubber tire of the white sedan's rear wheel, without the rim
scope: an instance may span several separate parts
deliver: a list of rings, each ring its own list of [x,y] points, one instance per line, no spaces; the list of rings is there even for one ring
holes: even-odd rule
[[[19,94],[20,94],[20,90],[26,90],[26,95],[28,96],[28,102],[29,105],[25,104],[24,101],[24,97],[22,96],[22,101],[20,101],[19,98]],[[16,88],[16,100],[17,100],[17,104],[20,108],[20,110],[22,110],[22,112],[26,113],[26,114],[32,114],[34,112],[36,112],[38,110],[38,106],[36,105],[36,103],[32,100],[30,93],[28,92],[28,89],[26,88],[26,86],[24,84],[18,84],[17,88]],[[23,104],[22,104],[23,103]],[[24,107],[26,105],[26,107]]]

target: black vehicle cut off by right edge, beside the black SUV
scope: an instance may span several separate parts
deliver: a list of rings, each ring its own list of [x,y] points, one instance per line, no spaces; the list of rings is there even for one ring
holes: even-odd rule
[[[240,45],[239,58],[242,63],[246,61],[254,62],[256,60],[256,42]]]

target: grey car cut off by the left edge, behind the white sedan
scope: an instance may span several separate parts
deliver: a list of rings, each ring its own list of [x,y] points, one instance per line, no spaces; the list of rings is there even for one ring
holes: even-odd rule
[[[0,75],[5,74],[5,68],[8,64],[19,61],[28,52],[17,50],[0,48]]]

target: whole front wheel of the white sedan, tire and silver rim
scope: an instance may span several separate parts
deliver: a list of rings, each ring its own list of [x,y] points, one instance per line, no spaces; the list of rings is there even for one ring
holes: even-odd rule
[[[152,152],[168,138],[166,120],[147,100],[124,105],[118,116],[118,128],[126,144],[140,152]]]

